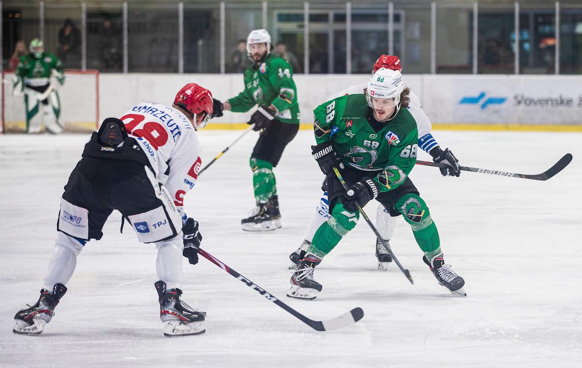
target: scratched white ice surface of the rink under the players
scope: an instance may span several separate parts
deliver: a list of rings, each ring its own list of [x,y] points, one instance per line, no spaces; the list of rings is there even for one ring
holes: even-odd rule
[[[240,131],[202,131],[203,164]],[[275,169],[283,228],[248,233],[253,207],[249,133],[200,175],[187,194],[203,248],[311,319],[364,309],[359,323],[315,332],[214,264],[184,259],[184,300],[208,312],[207,332],[166,338],[154,289],[156,251],[119,233],[83,250],[68,293],[38,337],[12,333],[13,316],[34,303],[55,238],[70,171],[88,136],[0,136],[0,366],[204,367],[573,367],[582,362],[582,135],[434,132],[461,164],[538,174],[563,154],[574,160],[546,182],[463,172],[443,178],[414,168],[447,263],[466,280],[467,298],[439,286],[399,220],[393,250],[409,268],[376,268],[364,221],[315,271],[313,302],[285,298],[288,254],[299,246],[320,196],[322,175],[301,131]],[[421,160],[430,160],[422,153]],[[375,204],[366,207],[375,217]]]

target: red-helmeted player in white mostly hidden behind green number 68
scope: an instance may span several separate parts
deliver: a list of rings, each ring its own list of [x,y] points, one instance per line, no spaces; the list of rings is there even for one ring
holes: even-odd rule
[[[372,75],[380,68],[398,70],[401,72],[402,64],[400,63],[398,56],[381,55],[374,63]],[[327,100],[332,100],[333,98],[337,98],[346,94],[364,94],[366,88],[367,82],[356,84],[355,86],[349,87],[348,89],[333,95]],[[430,154],[435,162],[441,162],[448,165],[446,168],[441,168],[441,174],[443,176],[459,176],[459,161],[449,150],[449,148],[446,148],[443,151],[441,147],[439,147],[437,140],[435,140],[432,136],[431,121],[421,107],[420,98],[418,98],[418,96],[412,91],[410,92],[409,98],[410,103],[408,109],[410,114],[416,120],[418,127],[418,146],[423,151]],[[328,213],[328,193],[325,190],[325,183],[322,189],[324,192],[322,193],[320,203],[315,209],[315,212],[313,215],[311,215],[311,220],[307,227],[304,240],[301,242],[299,248],[297,248],[289,255],[289,258],[292,261],[292,265],[289,267],[290,269],[294,269],[296,267],[297,262],[299,262],[299,260],[303,257],[303,254],[305,254],[308,246],[311,244],[311,239],[313,239],[315,231],[317,231],[321,224],[323,224],[325,221],[328,221],[330,217]],[[396,218],[398,215],[399,213],[397,211],[391,210],[390,208],[384,208],[382,204],[378,204],[376,220],[377,228],[379,233],[382,235],[382,238],[386,240],[386,243],[389,243],[389,240],[392,238],[392,234],[394,233],[394,229],[396,227]],[[378,239],[376,239],[376,257],[378,259],[378,269],[382,271],[388,270],[388,263],[392,262],[392,257],[386,251],[386,249],[384,249],[384,246],[382,246],[382,243]]]

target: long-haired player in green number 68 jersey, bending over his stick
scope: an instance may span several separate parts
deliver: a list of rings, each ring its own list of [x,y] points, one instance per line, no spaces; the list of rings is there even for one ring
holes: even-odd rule
[[[445,264],[430,211],[408,178],[416,163],[417,124],[406,109],[410,89],[398,70],[379,69],[365,94],[335,98],[315,108],[313,157],[327,176],[329,214],[297,264],[287,293],[291,298],[314,299],[322,286],[313,278],[314,267],[352,230],[364,207],[376,199],[401,213],[410,224],[423,260],[439,284],[464,295],[464,280]],[[338,168],[349,190],[343,189]]]

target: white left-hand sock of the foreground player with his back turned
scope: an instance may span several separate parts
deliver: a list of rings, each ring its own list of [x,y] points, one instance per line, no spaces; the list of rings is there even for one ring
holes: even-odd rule
[[[83,250],[79,240],[59,231],[56,234],[55,249],[52,250],[51,260],[48,263],[47,274],[44,277],[42,288],[52,293],[55,284],[65,285],[72,277],[77,266],[77,256]]]

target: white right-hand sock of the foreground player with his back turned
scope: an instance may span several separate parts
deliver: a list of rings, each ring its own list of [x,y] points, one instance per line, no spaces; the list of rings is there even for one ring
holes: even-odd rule
[[[181,233],[180,233],[181,234]],[[182,236],[177,235],[170,240],[156,242],[158,259],[155,269],[158,279],[166,283],[166,290],[180,288],[182,285]]]

